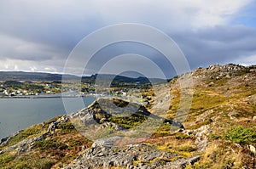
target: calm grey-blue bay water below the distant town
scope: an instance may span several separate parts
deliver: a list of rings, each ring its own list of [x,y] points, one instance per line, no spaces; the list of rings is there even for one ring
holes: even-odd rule
[[[66,113],[83,109],[94,97],[44,99],[0,99],[0,138]],[[66,108],[66,110],[65,110]]]

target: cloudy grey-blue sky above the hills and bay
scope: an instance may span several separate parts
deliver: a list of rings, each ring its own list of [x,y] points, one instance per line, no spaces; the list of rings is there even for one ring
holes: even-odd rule
[[[164,32],[176,42],[191,70],[213,64],[256,65],[253,0],[2,0],[0,70],[63,73],[68,56],[84,37],[124,23],[148,25]],[[173,76],[172,63],[166,65],[162,54],[135,42],[102,48],[86,70],[76,65],[84,62],[78,59],[68,73],[83,71],[90,75],[117,54],[129,57],[129,53],[148,56],[166,76]],[[134,65],[132,60],[136,63],[143,59],[132,55],[129,62],[114,66]],[[143,65],[145,70],[157,77],[149,65]],[[109,69],[104,73],[113,73]]]

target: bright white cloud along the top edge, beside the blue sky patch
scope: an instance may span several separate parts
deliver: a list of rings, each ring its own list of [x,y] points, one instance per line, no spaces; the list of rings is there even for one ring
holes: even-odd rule
[[[252,0],[98,0],[93,7],[103,20],[142,22],[184,29],[222,25]],[[184,27],[185,26],[185,27]]]

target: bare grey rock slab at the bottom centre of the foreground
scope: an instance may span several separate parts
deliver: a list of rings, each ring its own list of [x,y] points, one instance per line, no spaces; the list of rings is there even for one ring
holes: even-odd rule
[[[74,168],[110,168],[119,166],[129,169],[136,168],[184,168],[199,161],[200,156],[182,158],[181,155],[155,149],[148,144],[131,144],[121,147],[111,146],[120,137],[103,138],[96,140],[91,149],[84,152],[72,165],[64,169]],[[174,161],[160,162],[166,159]]]

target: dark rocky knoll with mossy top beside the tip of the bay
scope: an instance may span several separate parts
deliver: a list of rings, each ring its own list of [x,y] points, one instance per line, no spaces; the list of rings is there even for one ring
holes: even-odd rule
[[[129,107],[123,110],[123,107],[128,104]],[[75,126],[81,126],[82,122],[82,125],[86,127],[90,125],[101,125],[102,127],[113,128],[116,131],[134,127],[132,122],[143,123],[148,118],[170,124],[173,127],[184,128],[183,124],[179,121],[172,121],[171,119],[151,114],[143,105],[129,103],[121,99],[97,99],[87,108],[79,110],[69,115],[69,117]],[[79,121],[76,121],[77,119]],[[125,124],[127,124],[127,121],[131,121],[131,125],[124,125],[121,121],[125,121]]]

